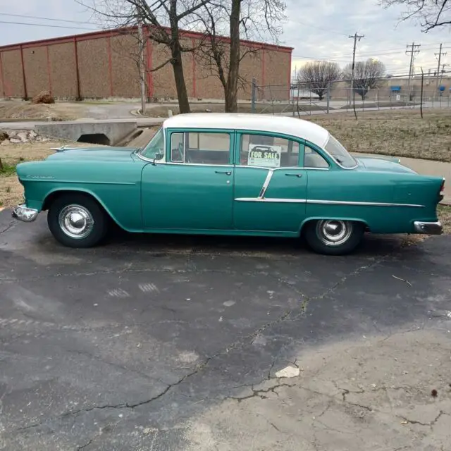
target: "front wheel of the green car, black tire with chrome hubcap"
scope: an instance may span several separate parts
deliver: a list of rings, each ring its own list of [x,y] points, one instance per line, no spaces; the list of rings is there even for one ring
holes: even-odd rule
[[[108,218],[99,204],[82,193],[56,197],[47,215],[49,229],[62,245],[92,247],[104,239]]]

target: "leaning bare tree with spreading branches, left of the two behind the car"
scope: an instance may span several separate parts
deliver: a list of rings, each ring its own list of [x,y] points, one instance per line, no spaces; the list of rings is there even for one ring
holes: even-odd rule
[[[163,44],[168,51],[168,58],[150,70],[155,71],[171,64],[177,90],[180,113],[190,112],[185,76],[183,73],[183,53],[192,52],[196,47],[183,44],[181,31],[189,28],[192,14],[204,7],[211,0],[77,0],[78,3],[93,11],[101,23],[107,27],[120,27],[129,33],[129,27],[138,23],[143,26],[143,40]],[[139,48],[144,47],[137,37]],[[191,41],[190,41],[191,42]],[[198,43],[199,45],[202,42]],[[138,52],[137,58],[141,58]]]

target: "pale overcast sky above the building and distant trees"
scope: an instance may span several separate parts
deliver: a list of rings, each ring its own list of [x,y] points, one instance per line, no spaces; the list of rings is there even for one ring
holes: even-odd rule
[[[357,59],[378,58],[388,73],[409,71],[406,44],[421,44],[415,58],[416,72],[436,68],[440,42],[448,55],[443,63],[451,64],[451,27],[421,32],[414,22],[399,23],[401,8],[385,10],[377,0],[285,0],[288,21],[283,25],[281,44],[294,47],[293,70],[311,59],[328,59],[345,66],[352,59],[353,40],[348,36],[358,32],[365,35],[358,43]],[[17,14],[51,18],[24,18]],[[63,20],[80,21],[80,23]],[[73,35],[97,29],[89,22],[89,11],[75,0],[0,0],[0,45],[35,39]],[[16,22],[8,24],[4,22]],[[85,22],[85,23],[82,23]],[[20,25],[18,23],[39,24]],[[67,28],[64,28],[67,27]],[[73,28],[71,28],[73,27]],[[445,67],[451,70],[451,66]]]

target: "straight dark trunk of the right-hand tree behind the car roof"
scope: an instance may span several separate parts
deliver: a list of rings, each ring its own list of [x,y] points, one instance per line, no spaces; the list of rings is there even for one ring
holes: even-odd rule
[[[238,76],[240,74],[240,12],[241,1],[232,0],[230,13],[230,59],[228,68],[228,80],[225,89],[226,113],[238,111]]]

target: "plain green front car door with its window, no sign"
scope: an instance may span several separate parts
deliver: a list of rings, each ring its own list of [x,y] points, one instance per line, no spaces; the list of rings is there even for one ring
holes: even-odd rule
[[[233,228],[233,131],[167,130],[162,163],[142,171],[144,229]]]

